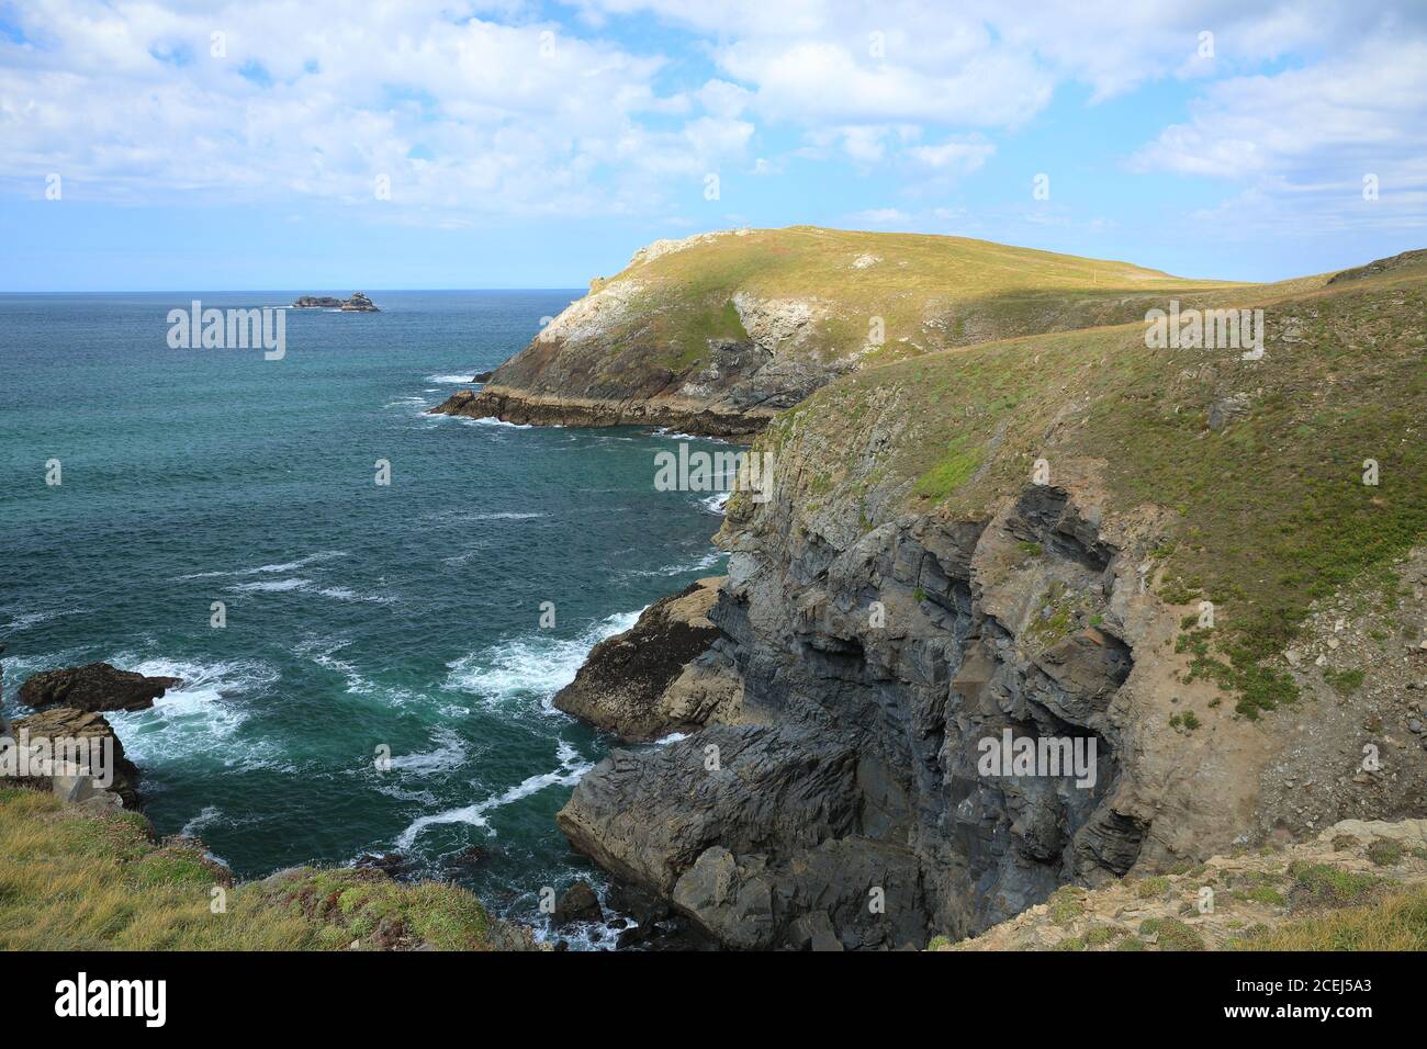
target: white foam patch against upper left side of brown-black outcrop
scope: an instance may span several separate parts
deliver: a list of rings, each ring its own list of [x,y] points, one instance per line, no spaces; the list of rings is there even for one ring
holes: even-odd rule
[[[462,657],[447,664],[451,669],[447,688],[474,692],[488,705],[537,696],[548,706],[549,698],[575,679],[589,649],[634,627],[639,612],[611,615],[578,638],[552,638],[547,631],[538,631]]]

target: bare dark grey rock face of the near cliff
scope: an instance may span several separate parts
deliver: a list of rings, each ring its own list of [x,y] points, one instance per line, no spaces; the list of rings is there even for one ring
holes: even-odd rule
[[[1146,831],[1112,798],[1133,654],[1093,517],[1030,488],[990,520],[905,517],[843,548],[788,504],[735,528],[721,637],[689,672],[741,678],[739,724],[616,751],[561,828],[738,948],[922,946],[1123,875]],[[1005,729],[1093,741],[1093,785],[983,775]]]

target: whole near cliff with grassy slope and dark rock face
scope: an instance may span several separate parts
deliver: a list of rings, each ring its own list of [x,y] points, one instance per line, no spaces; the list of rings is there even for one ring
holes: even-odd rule
[[[729,946],[893,948],[1427,811],[1427,267],[1232,295],[1247,360],[1136,303],[781,414],[676,678],[739,702],[601,762],[571,842]],[[987,771],[1007,732],[1095,775]]]

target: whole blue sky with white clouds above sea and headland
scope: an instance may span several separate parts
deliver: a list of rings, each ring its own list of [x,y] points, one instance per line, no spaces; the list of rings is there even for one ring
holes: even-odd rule
[[[0,0],[0,291],[574,288],[793,224],[1427,247],[1427,3]]]

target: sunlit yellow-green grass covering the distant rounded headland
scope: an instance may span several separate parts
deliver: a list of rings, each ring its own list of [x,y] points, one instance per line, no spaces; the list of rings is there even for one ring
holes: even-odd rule
[[[862,255],[880,261],[853,267]],[[578,394],[572,380],[584,375],[592,380],[586,388],[652,392],[645,385],[666,373],[684,378],[701,370],[711,341],[746,338],[733,305],[739,294],[811,303],[813,317],[796,351],[809,363],[862,353],[890,363],[993,338],[1124,323],[1167,294],[1187,301],[1237,287],[962,237],[811,225],[715,237],[631,263],[591,287],[614,281],[638,290],[631,308],[596,337],[598,353],[577,340],[547,373],[548,354],[534,351],[502,381]],[[880,348],[870,341],[873,317],[883,327]]]

